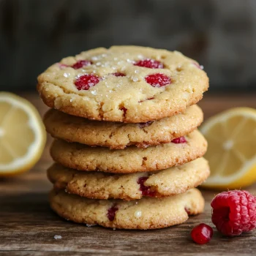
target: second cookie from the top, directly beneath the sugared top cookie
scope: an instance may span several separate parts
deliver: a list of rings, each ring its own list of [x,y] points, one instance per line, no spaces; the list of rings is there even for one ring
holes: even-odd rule
[[[113,149],[170,143],[195,130],[202,121],[203,111],[197,105],[187,108],[184,113],[140,124],[91,121],[53,109],[44,118],[46,130],[54,138]]]

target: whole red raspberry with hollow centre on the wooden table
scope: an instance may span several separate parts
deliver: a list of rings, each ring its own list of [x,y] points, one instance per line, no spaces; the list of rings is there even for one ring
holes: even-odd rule
[[[244,190],[222,192],[211,202],[211,220],[225,236],[239,236],[256,227],[256,197]]]

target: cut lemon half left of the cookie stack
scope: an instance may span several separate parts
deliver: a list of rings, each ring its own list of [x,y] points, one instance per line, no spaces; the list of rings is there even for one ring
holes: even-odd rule
[[[26,99],[0,92],[0,176],[33,167],[42,155],[45,140],[37,109]]]

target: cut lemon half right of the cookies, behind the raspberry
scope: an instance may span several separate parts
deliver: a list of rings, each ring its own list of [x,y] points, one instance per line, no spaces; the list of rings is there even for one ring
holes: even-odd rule
[[[203,187],[240,189],[256,181],[256,110],[232,108],[206,121],[211,176]]]

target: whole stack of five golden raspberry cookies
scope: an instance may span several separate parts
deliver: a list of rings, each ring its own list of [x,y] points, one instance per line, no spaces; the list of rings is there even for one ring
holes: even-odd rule
[[[208,77],[178,52],[97,48],[39,75],[55,138],[50,206],[86,225],[153,229],[203,211],[209,167],[195,105]]]

